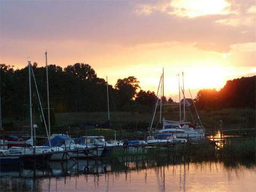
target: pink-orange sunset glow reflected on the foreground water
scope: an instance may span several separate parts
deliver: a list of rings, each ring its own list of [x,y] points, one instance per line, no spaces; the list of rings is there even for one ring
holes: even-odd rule
[[[43,179],[50,191],[255,191],[255,166],[203,162]]]

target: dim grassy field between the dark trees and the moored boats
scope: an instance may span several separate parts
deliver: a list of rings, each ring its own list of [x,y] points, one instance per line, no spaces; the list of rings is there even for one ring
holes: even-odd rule
[[[196,118],[195,111],[186,113],[188,121],[193,122],[191,114]],[[85,122],[104,123],[107,121],[107,112],[94,113],[55,113],[55,125],[52,126],[51,133],[69,133],[79,137],[80,135],[105,135],[114,137],[116,130],[117,137],[145,137],[147,127],[151,122],[152,111],[147,113],[131,113],[131,112],[110,112],[110,130],[94,129],[93,127],[85,127]],[[226,134],[251,134],[255,133],[255,110],[254,109],[222,109],[217,111],[199,111],[199,116],[207,133],[212,133],[220,127],[222,120],[223,130],[239,130],[225,132]],[[179,120],[179,106],[164,106],[163,117],[169,120]],[[5,123],[12,123],[14,127],[28,125],[28,119],[17,121],[15,119],[4,119]],[[159,123],[159,113],[155,115],[154,127]],[[28,127],[29,128],[29,127]],[[28,134],[30,129],[27,128]],[[5,127],[5,131],[14,131],[16,128]],[[254,130],[253,130],[254,129]],[[38,135],[45,135],[45,129],[41,126],[37,130]]]

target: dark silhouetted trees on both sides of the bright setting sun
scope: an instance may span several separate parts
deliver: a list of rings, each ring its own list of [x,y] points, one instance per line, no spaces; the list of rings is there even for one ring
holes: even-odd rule
[[[46,69],[32,66],[43,107],[47,106]],[[0,65],[2,116],[25,119],[28,117],[28,67],[14,70]],[[33,79],[33,78],[32,78]],[[220,90],[201,90],[194,99],[199,109],[255,108],[256,76],[227,81]],[[108,85],[111,111],[152,111],[156,94],[144,91],[134,76],[118,79],[115,86]],[[35,83],[32,82],[33,110],[39,113]],[[99,78],[85,63],[66,68],[49,65],[50,107],[55,112],[107,111],[107,82]],[[166,101],[166,98],[164,98]],[[169,99],[172,102],[172,99]]]

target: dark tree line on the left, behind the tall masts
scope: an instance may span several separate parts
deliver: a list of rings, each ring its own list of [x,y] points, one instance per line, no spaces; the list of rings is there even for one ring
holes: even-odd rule
[[[32,65],[43,107],[47,106],[46,68]],[[28,67],[13,69],[1,64],[2,116],[25,119],[29,111]],[[50,107],[55,112],[107,111],[107,82],[99,78],[86,63],[75,63],[66,68],[48,66]],[[32,78],[33,79],[33,78]],[[118,79],[115,86],[108,85],[111,111],[153,110],[155,92],[144,91],[134,76]],[[32,81],[33,110],[39,112],[35,83]]]

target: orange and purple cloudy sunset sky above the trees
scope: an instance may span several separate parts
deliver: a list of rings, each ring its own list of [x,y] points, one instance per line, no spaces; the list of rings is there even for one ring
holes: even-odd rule
[[[109,83],[135,76],[165,93],[220,89],[228,79],[256,73],[255,0],[1,1],[1,63],[22,68],[91,65]]]

